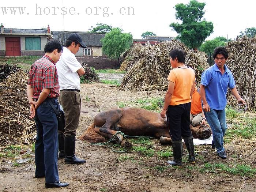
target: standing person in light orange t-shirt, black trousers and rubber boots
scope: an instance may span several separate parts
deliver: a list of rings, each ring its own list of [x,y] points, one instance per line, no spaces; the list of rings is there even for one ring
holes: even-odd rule
[[[172,139],[173,161],[167,161],[170,165],[181,166],[182,163],[182,138],[185,141],[190,163],[195,163],[193,137],[189,128],[191,95],[195,72],[187,67],[185,53],[181,49],[173,49],[169,53],[172,70],[168,76],[169,86],[165,94],[165,104],[161,117],[167,117],[169,133]]]

